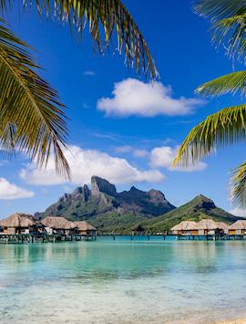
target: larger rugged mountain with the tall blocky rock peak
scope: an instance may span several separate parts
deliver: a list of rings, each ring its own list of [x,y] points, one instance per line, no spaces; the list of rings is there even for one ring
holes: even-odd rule
[[[90,189],[85,184],[73,193],[65,193],[56,204],[44,213],[36,213],[35,217],[54,215],[72,221],[89,220],[101,231],[127,233],[139,223],[174,208],[158,190],[143,192],[133,186],[129,191],[118,193],[114,184],[93,176]]]

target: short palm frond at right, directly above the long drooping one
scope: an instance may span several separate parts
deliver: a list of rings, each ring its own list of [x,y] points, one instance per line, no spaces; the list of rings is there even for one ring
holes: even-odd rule
[[[226,74],[220,78],[215,78],[203,83],[196,93],[205,97],[216,97],[227,93],[235,94],[241,91],[242,95],[246,92],[246,71],[237,71]]]

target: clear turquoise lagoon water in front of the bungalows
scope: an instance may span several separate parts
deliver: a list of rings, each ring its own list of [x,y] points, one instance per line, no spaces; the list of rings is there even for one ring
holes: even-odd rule
[[[2,323],[210,323],[246,317],[246,242],[99,237],[0,245]]]

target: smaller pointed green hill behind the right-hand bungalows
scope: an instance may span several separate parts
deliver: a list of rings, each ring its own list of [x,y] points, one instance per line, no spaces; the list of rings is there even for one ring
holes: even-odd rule
[[[140,226],[145,231],[158,233],[169,230],[172,226],[179,224],[181,221],[190,220],[198,222],[203,218],[210,218],[228,224],[240,219],[240,217],[236,217],[217,207],[212,200],[200,194],[188,204],[183,204],[169,213],[144,221],[140,223]]]

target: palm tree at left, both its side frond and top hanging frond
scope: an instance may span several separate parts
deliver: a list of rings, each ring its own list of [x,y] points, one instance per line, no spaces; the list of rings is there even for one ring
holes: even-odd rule
[[[57,92],[40,78],[25,42],[15,37],[4,21],[12,1],[0,0],[0,149],[22,152],[37,166],[46,166],[54,152],[56,172],[69,177],[63,150],[67,148],[65,106]],[[22,4],[21,4],[22,5]],[[24,7],[32,5],[24,1]],[[103,52],[112,46],[125,53],[129,67],[138,74],[158,77],[155,62],[138,26],[119,0],[49,0],[35,2],[40,16],[66,21],[82,37],[88,25],[94,47]]]

